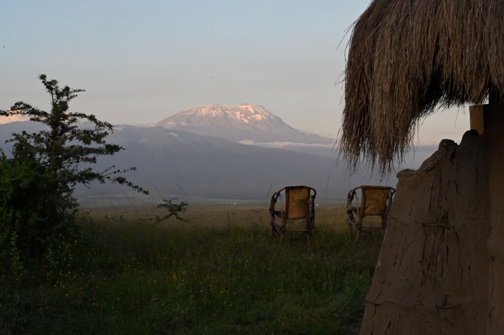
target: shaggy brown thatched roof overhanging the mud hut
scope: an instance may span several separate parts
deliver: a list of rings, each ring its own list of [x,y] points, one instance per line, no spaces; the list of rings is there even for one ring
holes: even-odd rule
[[[382,172],[439,107],[504,92],[504,1],[374,0],[349,41],[340,148]]]

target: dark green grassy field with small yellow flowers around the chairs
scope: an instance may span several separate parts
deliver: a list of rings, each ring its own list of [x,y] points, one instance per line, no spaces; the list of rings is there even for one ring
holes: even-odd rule
[[[195,208],[188,223],[161,224],[119,212],[88,216],[1,279],[0,334],[358,331],[381,236],[354,247],[339,207],[318,208],[310,248],[279,248],[265,208]]]

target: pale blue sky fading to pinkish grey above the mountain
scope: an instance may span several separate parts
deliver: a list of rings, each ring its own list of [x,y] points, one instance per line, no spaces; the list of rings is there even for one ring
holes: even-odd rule
[[[290,125],[336,137],[358,1],[0,0],[0,108],[48,108],[37,75],[84,88],[73,107],[149,123],[202,104],[257,103]],[[432,116],[420,144],[460,140],[468,115]]]

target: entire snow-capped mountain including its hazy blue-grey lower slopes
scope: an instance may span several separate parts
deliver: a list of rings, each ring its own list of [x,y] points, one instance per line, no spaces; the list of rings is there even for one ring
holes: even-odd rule
[[[40,124],[30,121],[0,124],[0,147],[8,153],[4,141],[11,133],[40,129]],[[96,169],[136,166],[137,171],[127,177],[158,199],[179,196],[195,203],[199,197],[234,198],[267,203],[273,191],[304,184],[316,188],[320,200],[343,200],[356,185],[380,184],[366,173],[349,178],[331,157],[334,139],[295,129],[254,104],[204,105],[151,127],[117,125],[107,141],[127,150],[99,157]],[[120,198],[145,202],[135,192],[113,184],[81,187],[76,195],[88,205],[106,205]]]

